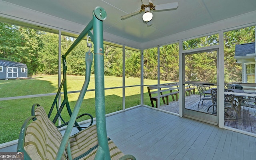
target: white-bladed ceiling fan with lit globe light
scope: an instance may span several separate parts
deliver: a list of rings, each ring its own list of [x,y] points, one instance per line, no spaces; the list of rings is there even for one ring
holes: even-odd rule
[[[152,0],[141,0],[141,2],[142,2],[141,6],[140,6],[141,10],[138,10],[136,12],[121,16],[121,20],[129,18],[131,16],[135,16],[136,14],[141,13],[142,11],[144,11],[142,19],[148,25],[151,25],[152,24],[152,18],[153,18],[153,14],[151,13],[151,10],[153,10],[153,11],[170,10],[170,9],[176,9],[178,7],[178,2],[158,4],[156,6],[154,6]]]

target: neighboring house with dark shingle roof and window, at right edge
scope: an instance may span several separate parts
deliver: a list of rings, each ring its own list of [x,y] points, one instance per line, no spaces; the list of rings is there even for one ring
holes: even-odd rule
[[[242,82],[256,83],[255,65],[256,65],[256,46],[255,42],[238,44],[235,50],[235,59],[237,63],[242,64]]]

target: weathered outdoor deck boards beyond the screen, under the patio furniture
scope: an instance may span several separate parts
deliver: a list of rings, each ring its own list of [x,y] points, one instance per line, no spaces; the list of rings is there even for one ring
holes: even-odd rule
[[[212,104],[210,100],[206,100],[201,103],[198,108],[198,103],[200,100],[200,96],[197,94],[192,94],[191,96],[186,96],[185,106],[186,108],[192,110],[199,110],[201,112],[207,112],[208,106]],[[159,107],[162,110],[167,110],[174,113],[179,113],[179,101],[169,102],[169,105],[162,105]],[[212,108],[210,108],[209,112],[212,112]],[[241,107],[241,116],[238,117],[238,114],[232,110],[228,109],[227,112],[236,117],[236,120],[225,120],[224,125],[232,128],[236,128],[239,130],[244,130],[247,132],[256,133],[256,108],[250,107]]]

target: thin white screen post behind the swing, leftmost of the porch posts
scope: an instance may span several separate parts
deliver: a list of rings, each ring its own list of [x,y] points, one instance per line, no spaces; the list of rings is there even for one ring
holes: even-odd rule
[[[58,44],[59,48],[58,48],[58,86],[60,87],[60,84],[61,84],[61,30],[59,30],[59,44]],[[58,97],[58,104],[59,104],[59,108],[60,108],[60,105],[61,105],[61,95],[59,95]],[[59,117],[59,122],[58,122],[59,126],[61,125],[61,120],[60,120],[60,117]]]

